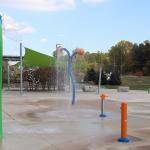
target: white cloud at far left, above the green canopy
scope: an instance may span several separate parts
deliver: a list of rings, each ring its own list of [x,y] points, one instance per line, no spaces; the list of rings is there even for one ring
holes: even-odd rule
[[[3,16],[3,27],[4,32],[7,33],[17,33],[17,34],[31,34],[36,30],[32,26],[25,24],[24,22],[17,22],[12,17],[4,15]]]

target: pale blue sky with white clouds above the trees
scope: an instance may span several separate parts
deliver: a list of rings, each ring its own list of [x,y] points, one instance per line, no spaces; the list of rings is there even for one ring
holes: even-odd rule
[[[57,43],[107,52],[120,40],[149,40],[149,6],[150,0],[0,0],[4,55],[19,55],[20,41],[51,55]]]

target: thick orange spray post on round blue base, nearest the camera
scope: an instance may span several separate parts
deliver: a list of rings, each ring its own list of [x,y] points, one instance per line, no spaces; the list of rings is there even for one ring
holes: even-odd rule
[[[129,142],[127,135],[127,103],[121,103],[121,138],[118,139],[119,142]]]

